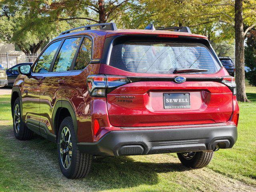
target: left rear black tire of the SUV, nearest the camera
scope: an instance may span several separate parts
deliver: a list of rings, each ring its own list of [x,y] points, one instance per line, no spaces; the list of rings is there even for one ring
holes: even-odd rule
[[[66,139],[65,136],[62,136],[62,132],[65,133],[65,130],[68,131],[66,136],[70,139]],[[65,138],[61,140],[61,138]],[[69,141],[68,141],[69,140]],[[68,141],[68,142],[65,142]],[[70,145],[71,141],[71,145]],[[66,145],[65,145],[66,144]],[[62,146],[62,147],[61,147]],[[75,136],[74,125],[71,117],[66,117],[60,124],[60,129],[58,131],[58,160],[60,164],[60,170],[62,174],[70,179],[83,178],[85,177],[91,168],[92,164],[92,155],[80,153],[80,150],[77,146],[77,139]],[[65,149],[65,152],[63,152]],[[70,149],[71,149],[71,158],[70,158]],[[60,152],[62,150],[62,153]],[[68,164],[66,164],[64,159],[68,159]],[[70,160],[71,159],[71,160]],[[68,165],[68,166],[67,166]]]

